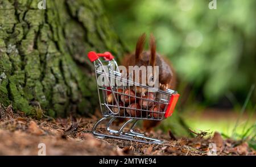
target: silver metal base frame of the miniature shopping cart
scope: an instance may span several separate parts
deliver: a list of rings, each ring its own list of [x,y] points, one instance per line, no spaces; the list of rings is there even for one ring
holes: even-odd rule
[[[106,133],[98,132],[97,127],[102,122],[104,122],[104,120],[109,119],[109,118],[110,118],[109,122],[106,123],[106,131],[105,131]],[[116,119],[115,117],[106,116],[106,117],[101,118],[100,120],[98,120],[98,122],[96,122],[94,124],[93,130],[92,130],[93,135],[95,135],[95,136],[97,136],[101,139],[104,139],[105,137],[110,137],[110,138],[115,138],[115,139],[138,141],[138,142],[141,142],[141,143],[148,143],[148,144],[162,144],[162,143],[164,143],[163,140],[154,139],[154,138],[151,138],[151,137],[146,137],[146,136],[144,136],[143,133],[135,132],[134,127],[137,124],[139,119],[129,119],[121,126],[121,128],[119,128],[118,131],[113,130],[113,129],[110,128],[110,125],[112,124],[112,122],[115,119]],[[129,128],[129,131],[126,131],[126,132],[123,131],[129,123],[132,123],[131,127]]]

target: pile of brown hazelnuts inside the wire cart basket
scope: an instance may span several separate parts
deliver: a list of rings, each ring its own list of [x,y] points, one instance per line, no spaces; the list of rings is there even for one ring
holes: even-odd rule
[[[166,105],[162,103],[156,103],[154,93],[147,92],[145,95],[141,95],[137,93],[137,96],[135,95],[135,92],[131,89],[121,89],[118,88],[115,91],[115,97],[119,99],[119,115],[120,116],[128,116],[131,117],[137,117],[137,118],[162,118],[161,113],[163,112]],[[115,104],[114,95],[111,93],[111,91],[108,91],[108,96],[106,97],[106,101],[110,105]],[[120,101],[121,99],[121,101]],[[141,111],[141,109],[143,111]],[[147,111],[146,111],[147,110]],[[112,111],[114,113],[118,112],[118,107],[114,106],[112,107]],[[154,111],[154,112],[150,112]],[[148,114],[148,115],[147,115]]]

